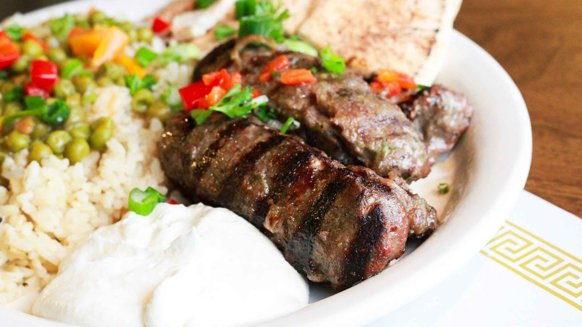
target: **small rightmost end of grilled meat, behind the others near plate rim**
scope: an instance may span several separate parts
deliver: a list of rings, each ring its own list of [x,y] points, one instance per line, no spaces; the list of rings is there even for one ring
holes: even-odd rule
[[[429,164],[449,152],[469,128],[473,108],[463,94],[441,85],[414,94],[400,103],[427,144]]]

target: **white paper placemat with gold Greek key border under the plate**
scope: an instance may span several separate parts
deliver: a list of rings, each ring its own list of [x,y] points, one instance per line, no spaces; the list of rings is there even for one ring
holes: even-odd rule
[[[582,326],[582,219],[523,191],[479,254],[381,326]]]

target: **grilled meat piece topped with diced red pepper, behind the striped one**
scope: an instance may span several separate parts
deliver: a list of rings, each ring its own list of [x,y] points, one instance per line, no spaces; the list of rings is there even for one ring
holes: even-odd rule
[[[215,49],[200,62],[194,79],[222,67],[241,72],[243,83],[267,95],[268,105],[283,119],[293,117],[301,123],[299,136],[339,162],[363,164],[381,176],[395,173],[407,180],[428,175],[427,150],[418,131],[397,105],[373,93],[359,72],[348,69],[338,76],[328,73],[319,58],[244,48],[250,41],[255,40],[229,42]],[[288,56],[291,68],[315,67],[317,81],[286,86],[274,76],[259,83],[264,66],[281,54]]]

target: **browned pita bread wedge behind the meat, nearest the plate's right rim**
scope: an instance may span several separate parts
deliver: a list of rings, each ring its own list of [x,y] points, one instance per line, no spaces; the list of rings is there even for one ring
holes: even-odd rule
[[[292,6],[292,0],[287,5]],[[353,67],[390,68],[432,84],[462,0],[313,0],[297,31]]]

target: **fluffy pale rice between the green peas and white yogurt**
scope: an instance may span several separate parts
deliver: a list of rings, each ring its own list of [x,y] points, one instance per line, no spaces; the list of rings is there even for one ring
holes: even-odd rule
[[[178,87],[188,83],[191,67],[171,63],[156,74]],[[113,137],[102,155],[92,151],[69,165],[55,156],[40,164],[27,161],[28,150],[6,158],[0,186],[0,303],[8,303],[54,277],[66,253],[94,229],[118,221],[127,211],[134,187],[154,187],[166,193],[165,176],[155,143],[162,123],[134,114],[126,87],[105,87],[88,119],[109,116]]]

